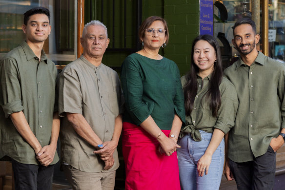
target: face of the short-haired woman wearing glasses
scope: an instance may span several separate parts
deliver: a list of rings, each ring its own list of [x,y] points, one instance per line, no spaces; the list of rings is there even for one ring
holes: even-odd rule
[[[164,25],[162,21],[154,21],[152,24],[147,28],[153,28],[154,31],[151,35],[147,35],[147,31],[144,31],[144,37],[141,39],[144,42],[144,48],[148,49],[159,49],[164,42],[166,42],[166,35],[164,33],[163,36],[159,36],[157,31],[159,29],[164,29]]]

